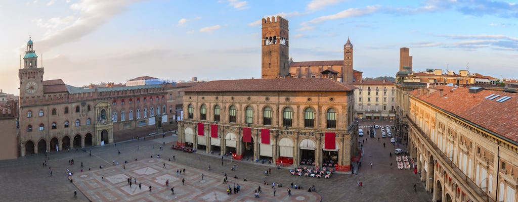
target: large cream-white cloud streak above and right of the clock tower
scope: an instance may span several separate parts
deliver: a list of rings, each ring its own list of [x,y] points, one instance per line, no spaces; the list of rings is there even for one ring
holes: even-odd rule
[[[129,4],[138,1],[141,0],[83,0],[74,3],[69,8],[77,16],[39,21],[38,26],[46,27],[48,32],[43,39],[38,40],[38,47],[48,51],[52,47],[79,40],[124,12]]]

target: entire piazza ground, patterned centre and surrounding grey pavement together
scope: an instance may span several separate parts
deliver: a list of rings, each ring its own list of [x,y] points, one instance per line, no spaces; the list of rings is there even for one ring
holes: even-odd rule
[[[361,125],[372,123],[362,122]],[[378,121],[376,124],[384,125]],[[333,174],[329,179],[291,176],[287,168],[275,169],[272,165],[244,160],[231,162],[228,158],[224,159],[222,166],[221,157],[217,154],[171,150],[170,146],[176,143],[176,139],[168,133],[165,138],[141,138],[139,141],[118,143],[117,146],[86,148],[87,152],[51,152],[47,166],[42,166],[44,154],[0,161],[0,201],[431,201],[431,194],[424,191],[419,174],[414,174],[412,169],[396,168],[390,138],[378,141],[366,134],[363,139],[367,142],[364,143],[359,172],[354,175]],[[166,146],[160,150],[164,142]],[[88,152],[90,149],[92,156]],[[389,152],[392,152],[392,158]],[[156,158],[157,154],[161,155],[161,159]],[[151,155],[153,158],[150,158]],[[74,159],[74,165],[68,164],[71,159]],[[113,161],[119,165],[113,165]],[[128,161],[125,169],[124,161]],[[393,166],[390,166],[391,163]],[[238,168],[232,171],[231,165],[234,164]],[[103,169],[99,169],[101,165]],[[186,174],[177,177],[176,170],[180,168],[185,168]],[[265,176],[264,170],[268,168],[271,168],[271,175]],[[74,172],[71,176],[73,183],[68,180],[67,169]],[[201,179],[202,173],[204,180]],[[233,183],[239,183],[239,194],[226,194],[227,185],[222,184],[225,173],[232,188]],[[234,179],[235,175],[239,179]],[[133,184],[130,188],[127,185],[128,177],[137,178],[137,185]],[[169,187],[165,185],[167,179]],[[182,185],[182,179],[185,179],[185,185]],[[363,182],[362,188],[358,187],[358,180]],[[264,181],[268,185],[264,185]],[[272,193],[272,182],[283,184],[283,188],[277,188],[276,197]],[[292,189],[293,196],[287,197],[286,190],[291,182],[302,185],[304,190]],[[142,183],[141,190],[138,183]],[[414,184],[418,185],[417,191],[414,191]],[[259,185],[263,193],[261,198],[254,198],[254,190]],[[311,185],[315,185],[316,193],[307,192]],[[171,194],[171,186],[175,188],[175,195]],[[74,190],[78,191],[77,198],[74,198]]]

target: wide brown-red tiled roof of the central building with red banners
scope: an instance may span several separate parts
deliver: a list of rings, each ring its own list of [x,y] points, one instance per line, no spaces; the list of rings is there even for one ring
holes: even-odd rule
[[[185,92],[351,91],[356,87],[325,78],[242,79],[199,83]]]

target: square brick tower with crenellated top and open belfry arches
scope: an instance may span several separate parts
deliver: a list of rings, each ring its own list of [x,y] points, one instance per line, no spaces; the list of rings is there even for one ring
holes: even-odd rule
[[[280,15],[262,19],[261,74],[263,79],[289,76],[288,21]]]

